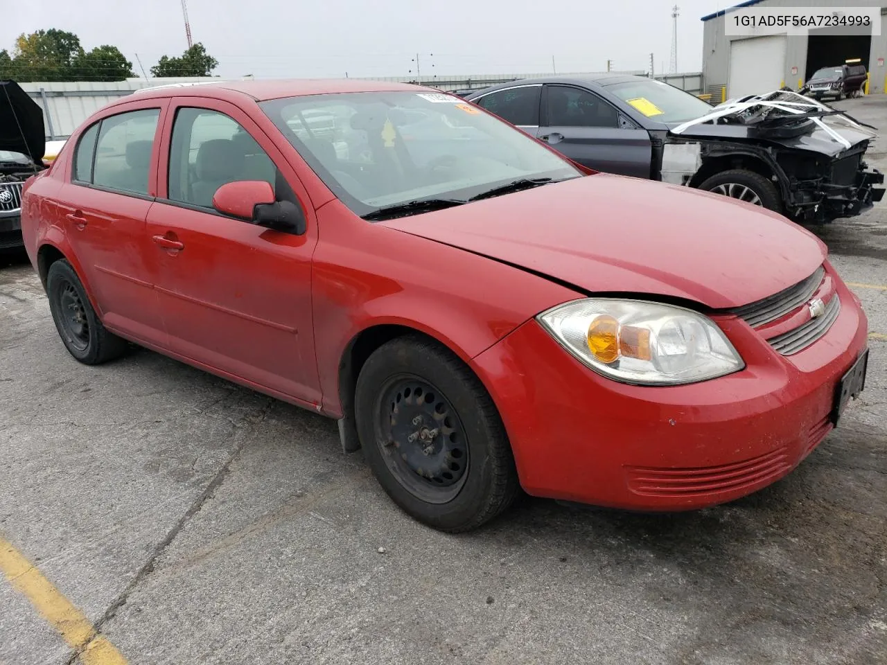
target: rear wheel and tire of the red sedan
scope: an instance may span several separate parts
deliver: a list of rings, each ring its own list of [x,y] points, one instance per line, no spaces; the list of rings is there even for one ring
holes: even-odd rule
[[[108,332],[98,320],[69,262],[59,259],[52,263],[46,276],[46,293],[59,337],[75,359],[82,364],[101,364],[126,353],[127,341]]]

